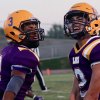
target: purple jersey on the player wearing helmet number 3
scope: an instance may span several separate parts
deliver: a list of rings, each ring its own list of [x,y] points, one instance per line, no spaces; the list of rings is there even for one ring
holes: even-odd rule
[[[5,91],[13,69],[26,73],[24,84],[15,98],[15,100],[24,100],[26,91],[34,81],[39,64],[38,56],[24,46],[11,43],[2,50],[0,62],[0,91]]]

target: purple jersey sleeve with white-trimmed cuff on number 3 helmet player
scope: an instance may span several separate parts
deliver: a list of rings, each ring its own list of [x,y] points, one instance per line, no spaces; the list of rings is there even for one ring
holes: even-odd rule
[[[12,57],[11,64],[12,69],[29,72],[37,68],[39,58],[30,49],[19,47]]]

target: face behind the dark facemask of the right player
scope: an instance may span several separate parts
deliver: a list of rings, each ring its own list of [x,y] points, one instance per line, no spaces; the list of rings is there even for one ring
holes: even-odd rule
[[[73,16],[70,18],[69,29],[71,33],[78,33],[84,29],[86,18],[81,16]]]

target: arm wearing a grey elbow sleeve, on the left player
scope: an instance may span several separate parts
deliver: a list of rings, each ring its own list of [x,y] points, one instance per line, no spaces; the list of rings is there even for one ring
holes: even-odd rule
[[[25,75],[25,73],[18,70],[12,71],[12,77],[7,84],[6,90],[3,95],[3,100],[14,100],[24,82]]]

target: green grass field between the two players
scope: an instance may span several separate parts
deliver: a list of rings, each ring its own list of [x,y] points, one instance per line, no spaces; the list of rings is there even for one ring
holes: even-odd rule
[[[73,83],[73,74],[71,72],[67,74],[45,75],[44,79],[49,91],[42,92],[36,80],[32,86],[32,90],[36,95],[43,96],[44,100],[69,100],[69,93]],[[26,97],[25,100],[32,99]]]

